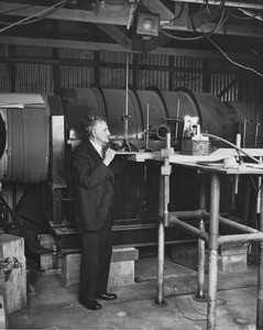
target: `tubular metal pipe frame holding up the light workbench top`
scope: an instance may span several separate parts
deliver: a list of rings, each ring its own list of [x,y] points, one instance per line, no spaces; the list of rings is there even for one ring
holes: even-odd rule
[[[166,141],[167,142],[167,141]],[[263,329],[263,188],[260,187],[261,207],[260,207],[260,227],[259,230],[240,224],[238,222],[226,219],[219,215],[220,206],[220,176],[237,174],[237,175],[256,175],[263,176],[263,168],[235,168],[228,170],[227,168],[219,168],[215,166],[204,166],[197,163],[186,163],[178,161],[175,163],[179,166],[196,167],[200,174],[200,199],[199,209],[193,211],[175,211],[168,212],[169,202],[169,175],[172,166],[169,162],[169,144],[166,144],[166,150],[161,152],[164,165],[161,169],[161,185],[160,185],[160,223],[158,223],[158,272],[157,272],[157,295],[154,306],[167,306],[164,299],[164,246],[165,246],[165,228],[178,227],[194,237],[198,238],[198,276],[196,297],[205,299],[205,242],[209,250],[209,267],[208,267],[208,297],[207,297],[207,329],[216,329],[216,314],[217,314],[217,272],[218,272],[218,250],[221,244],[226,243],[243,243],[243,242],[259,242],[260,257],[257,270],[257,301],[256,301],[256,329]],[[262,151],[263,152],[263,151]],[[173,162],[173,161],[172,161]],[[205,193],[205,175],[210,176],[210,212],[206,211],[206,193]],[[198,218],[199,229],[184,222],[184,219]],[[209,232],[205,231],[204,220],[209,220]],[[241,233],[220,235],[219,223],[227,224]]]

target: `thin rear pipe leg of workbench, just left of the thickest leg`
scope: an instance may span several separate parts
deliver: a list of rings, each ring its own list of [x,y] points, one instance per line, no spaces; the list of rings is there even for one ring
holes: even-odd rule
[[[205,194],[205,180],[204,175],[200,176],[200,209],[205,210],[206,208],[206,194]],[[205,231],[204,219],[200,218],[199,229]],[[197,274],[197,294],[195,300],[206,301],[205,295],[205,266],[206,266],[206,249],[205,241],[198,239],[198,274]]]

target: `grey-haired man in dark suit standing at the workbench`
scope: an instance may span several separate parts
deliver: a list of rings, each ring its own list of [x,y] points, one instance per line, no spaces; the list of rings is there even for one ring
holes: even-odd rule
[[[113,161],[116,152],[109,143],[106,119],[90,116],[86,123],[88,139],[74,152],[76,182],[75,221],[83,239],[79,302],[98,310],[97,299],[113,300],[107,292],[112,242],[111,223],[114,201],[114,173],[123,161]]]

